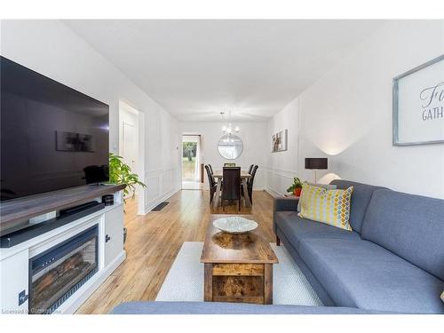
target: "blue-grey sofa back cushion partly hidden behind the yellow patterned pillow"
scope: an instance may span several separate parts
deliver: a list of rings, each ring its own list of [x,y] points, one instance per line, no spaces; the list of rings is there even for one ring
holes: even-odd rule
[[[365,211],[369,206],[371,194],[373,194],[373,191],[376,189],[384,187],[361,184],[342,179],[335,179],[331,181],[330,184],[336,185],[338,189],[345,189],[353,186],[352,202],[350,207],[350,225],[355,232],[361,234],[362,220],[364,218]]]

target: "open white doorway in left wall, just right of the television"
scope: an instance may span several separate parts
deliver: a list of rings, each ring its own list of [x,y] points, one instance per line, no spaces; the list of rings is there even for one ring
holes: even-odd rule
[[[119,103],[119,155],[123,157],[123,163],[130,166],[131,172],[140,178],[139,118],[138,110],[122,101]],[[130,193],[125,198],[132,195]]]

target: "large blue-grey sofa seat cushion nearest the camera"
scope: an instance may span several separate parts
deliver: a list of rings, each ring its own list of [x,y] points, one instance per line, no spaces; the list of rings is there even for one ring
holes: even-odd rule
[[[304,239],[299,255],[339,306],[400,313],[444,313],[444,282],[379,245]]]

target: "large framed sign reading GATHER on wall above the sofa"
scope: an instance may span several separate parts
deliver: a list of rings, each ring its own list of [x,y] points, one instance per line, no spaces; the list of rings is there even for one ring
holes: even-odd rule
[[[444,55],[393,78],[393,146],[444,143]]]

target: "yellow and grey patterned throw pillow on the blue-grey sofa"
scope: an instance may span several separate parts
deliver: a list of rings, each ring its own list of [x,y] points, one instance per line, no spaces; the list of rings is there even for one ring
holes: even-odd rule
[[[345,190],[328,190],[304,183],[300,198],[301,211],[297,215],[352,231],[349,223],[352,194],[353,186]]]

